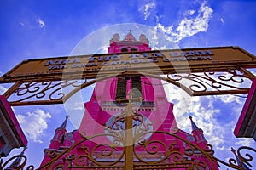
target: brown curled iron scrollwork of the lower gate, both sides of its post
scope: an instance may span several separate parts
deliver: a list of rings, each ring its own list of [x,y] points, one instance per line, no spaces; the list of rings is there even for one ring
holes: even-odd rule
[[[116,119],[121,119],[124,117],[124,114],[121,114]],[[143,116],[137,112],[132,115],[133,120],[140,120],[143,122]],[[148,124],[148,126],[152,126]],[[229,162],[218,159],[213,155],[213,149],[211,144],[207,144],[205,148],[201,148],[193,144],[190,140],[185,139],[178,135],[182,133],[179,129],[172,129],[173,131],[164,132],[164,131],[151,131],[148,127],[143,127],[142,123],[136,125],[137,130],[134,131],[133,137],[133,153],[134,153],[134,169],[148,169],[148,168],[161,168],[161,169],[172,169],[172,168],[186,168],[186,169],[213,169],[214,165],[223,164],[227,167],[232,167],[234,169],[243,169],[242,165],[246,163],[249,166],[252,166],[250,162],[253,161],[253,156],[246,153],[245,156],[242,156],[241,151],[252,151],[256,153],[256,150],[250,147],[242,146],[237,150],[236,160],[230,158]],[[47,150],[46,154],[49,156],[51,161],[47,164],[39,167],[38,169],[73,169],[73,168],[119,168],[124,167],[124,156],[125,156],[125,136],[124,129],[113,129],[113,127],[106,127],[109,133],[97,134],[93,136],[86,136],[83,133],[80,134],[81,140],[73,144],[70,148],[65,148],[63,150]],[[173,141],[181,141],[187,147],[182,152],[180,150],[175,150],[177,143],[170,142],[169,144],[163,143],[160,139],[145,139],[145,136],[148,134],[160,134],[167,135]],[[106,138],[111,137],[113,140],[108,144],[95,144],[93,147],[89,147],[87,142],[90,142],[90,139],[96,138]],[[160,147],[164,150],[160,150]],[[83,150],[83,154],[75,156],[73,150],[78,149]],[[137,149],[136,149],[137,148]],[[139,148],[139,151],[138,151]],[[143,154],[142,154],[143,153]],[[112,158],[112,161],[103,162],[101,159],[96,159],[96,156],[101,158]],[[189,156],[203,156],[205,161],[191,161],[188,159]],[[114,159],[113,159],[114,157]],[[147,159],[147,157],[154,157],[154,161]],[[3,163],[1,160],[0,169],[5,169],[9,167],[10,162],[16,160],[17,158],[20,161],[19,163],[13,166],[13,169],[24,169],[26,167],[26,156],[18,155],[11,157],[8,161]],[[23,160],[23,161],[21,161]],[[207,163],[208,162],[208,163]],[[88,164],[89,163],[89,164]],[[210,165],[208,167],[207,165]],[[26,167],[27,170],[33,170],[34,166],[30,165]]]

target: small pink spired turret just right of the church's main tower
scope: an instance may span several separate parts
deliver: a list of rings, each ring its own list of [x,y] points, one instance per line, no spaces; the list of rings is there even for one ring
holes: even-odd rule
[[[192,136],[195,138],[195,142],[201,147],[206,148],[207,146],[207,140],[204,137],[203,130],[196,126],[195,122],[192,120],[192,116],[189,116],[189,119],[191,121],[191,127],[192,127]]]

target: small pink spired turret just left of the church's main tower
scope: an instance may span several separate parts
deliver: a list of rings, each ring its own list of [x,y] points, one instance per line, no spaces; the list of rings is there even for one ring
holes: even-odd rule
[[[67,119],[68,116],[66,116],[65,121],[61,124],[60,127],[56,128],[55,130],[55,136],[50,141],[49,149],[58,149],[60,145],[63,143],[64,135],[67,132]]]

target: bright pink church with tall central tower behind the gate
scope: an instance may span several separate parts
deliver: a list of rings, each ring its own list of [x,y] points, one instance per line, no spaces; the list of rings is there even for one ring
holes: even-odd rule
[[[150,51],[148,39],[139,40],[131,31],[120,40],[114,34],[109,54]],[[49,148],[44,150],[42,169],[124,169],[125,118],[127,103],[132,103],[134,169],[218,169],[211,161],[201,128],[192,117],[192,132],[177,127],[173,104],[166,99],[162,82],[152,77],[109,78],[96,82],[80,127],[66,130],[67,119],[56,128]],[[128,95],[131,94],[131,95]]]

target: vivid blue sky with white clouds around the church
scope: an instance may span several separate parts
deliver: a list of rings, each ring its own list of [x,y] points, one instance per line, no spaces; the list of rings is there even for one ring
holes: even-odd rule
[[[125,35],[131,28],[129,24],[122,25],[125,23],[136,23],[144,30],[148,27],[158,31],[161,37],[157,41],[149,39],[154,48],[240,46],[256,54],[256,2],[253,0],[3,0],[0,22],[2,74],[24,59],[91,54],[101,48],[104,51],[113,36],[112,32],[104,32],[104,28],[122,31],[118,33]],[[136,31],[133,33],[137,34]],[[91,40],[106,44],[93,43],[96,48],[89,49],[86,42]],[[77,47],[81,44],[84,49],[79,51]],[[1,85],[0,92],[3,93],[7,87]],[[189,105],[185,105],[186,94],[176,93],[180,94],[177,99],[168,97],[176,104],[174,112],[179,127],[189,132],[187,117],[192,114],[209,143],[213,144],[216,156],[222,159],[231,157],[231,146],[238,148],[247,144],[256,147],[253,140],[236,139],[233,135],[244,98],[234,95],[189,98]],[[67,115],[65,107],[23,106],[14,107],[14,111],[29,140],[29,149],[26,150],[28,162],[38,166],[55,128]],[[68,129],[73,129],[71,122]],[[37,150],[36,156],[34,150]]]

